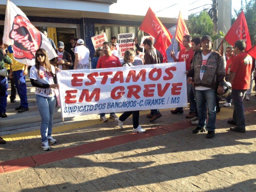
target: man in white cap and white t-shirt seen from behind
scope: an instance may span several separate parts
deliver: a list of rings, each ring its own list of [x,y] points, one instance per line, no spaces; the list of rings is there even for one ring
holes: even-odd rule
[[[90,69],[90,63],[89,63],[89,55],[90,51],[88,48],[84,46],[83,39],[77,40],[77,45],[75,47],[75,64],[74,69]]]

